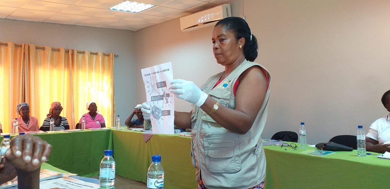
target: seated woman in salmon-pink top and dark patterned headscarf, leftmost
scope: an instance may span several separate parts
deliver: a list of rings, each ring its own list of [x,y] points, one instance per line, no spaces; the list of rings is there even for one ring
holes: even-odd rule
[[[39,131],[38,119],[30,116],[30,106],[28,106],[27,103],[20,103],[16,107],[16,112],[18,112],[18,114],[20,115],[20,117],[18,118],[20,133],[28,131]],[[11,121],[11,131],[13,122],[14,120]]]

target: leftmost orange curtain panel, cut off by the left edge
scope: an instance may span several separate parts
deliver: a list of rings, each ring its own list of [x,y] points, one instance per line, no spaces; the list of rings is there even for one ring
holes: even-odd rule
[[[11,120],[19,116],[16,106],[23,101],[26,50],[24,44],[0,45],[0,122],[4,133],[9,133]]]

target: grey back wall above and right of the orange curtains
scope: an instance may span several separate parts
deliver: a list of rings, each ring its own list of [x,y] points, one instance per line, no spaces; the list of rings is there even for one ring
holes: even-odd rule
[[[126,119],[135,106],[135,45],[132,31],[0,19],[0,41],[118,54],[119,58],[114,60],[117,114]]]

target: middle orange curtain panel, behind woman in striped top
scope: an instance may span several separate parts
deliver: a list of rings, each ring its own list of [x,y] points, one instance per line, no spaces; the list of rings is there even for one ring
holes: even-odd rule
[[[51,47],[37,49],[28,45],[28,63],[25,85],[25,98],[30,105],[30,115],[38,119],[41,126],[50,105],[54,101],[64,108],[70,128],[74,126],[73,87],[71,52],[64,48],[51,50]]]

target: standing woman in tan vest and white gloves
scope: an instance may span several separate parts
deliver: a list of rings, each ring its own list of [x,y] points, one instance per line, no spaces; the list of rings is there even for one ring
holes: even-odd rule
[[[266,123],[271,77],[253,61],[257,40],[246,21],[227,17],[216,24],[211,41],[216,62],[225,71],[200,88],[172,80],[170,91],[193,104],[176,112],[174,124],[191,128],[191,154],[199,188],[263,188],[266,161],[261,133]],[[151,111],[142,104],[145,119]]]

